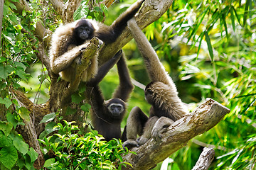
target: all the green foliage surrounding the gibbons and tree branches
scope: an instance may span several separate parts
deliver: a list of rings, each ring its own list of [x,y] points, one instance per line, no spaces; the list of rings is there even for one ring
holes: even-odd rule
[[[130,3],[132,2],[129,1]],[[33,11],[23,11],[20,15],[15,12],[14,4],[10,1],[4,2],[0,57],[0,169],[33,169],[32,165],[37,157],[33,148],[28,147],[21,135],[14,131],[17,126],[23,125],[23,120],[27,120],[28,112],[15,100],[10,88],[26,91],[26,96],[34,103],[43,103],[49,98],[50,82],[46,69],[36,57],[35,49],[38,44],[33,35],[35,25],[30,23],[41,19],[44,26],[53,31],[59,24],[58,16],[53,16],[53,8],[47,1],[31,1],[29,4]],[[127,4],[124,1],[110,7],[108,14],[105,13],[105,23],[112,23],[125,10]],[[105,12],[104,6],[101,7],[102,9],[93,8],[92,11],[86,10],[87,8],[79,9],[75,17],[82,11],[91,18],[101,20],[102,10]],[[164,16],[144,29],[144,33],[151,40],[166,71],[174,79],[182,101],[188,103],[191,111],[206,98],[213,98],[231,110],[215,128],[188,142],[186,147],[171,155],[164,164],[159,164],[155,169],[160,166],[166,169],[192,169],[202,148],[208,145],[215,149],[215,159],[210,169],[256,169],[255,1],[177,0]],[[149,79],[145,77],[143,60],[133,40],[124,47],[124,53],[132,78],[147,84]],[[117,84],[117,69],[114,67],[100,84],[106,98],[110,98]],[[139,106],[145,113],[149,111],[149,104],[144,100],[144,91],[139,87],[134,89],[129,100],[128,112],[134,106]],[[12,107],[16,107],[15,112]],[[122,127],[125,123],[124,120]],[[55,125],[55,128],[61,128],[61,124],[49,125],[48,128],[53,129]],[[74,128],[70,123],[64,125]],[[75,127],[65,130],[71,137],[71,131],[77,129]],[[53,142],[53,139],[59,142],[62,140],[60,143],[63,145],[63,135],[63,131],[59,131],[53,137],[41,138],[44,153],[50,150],[56,151],[55,155],[58,155],[59,148],[54,148],[57,142]],[[73,135],[78,137],[76,131]],[[119,141],[107,145],[99,142],[94,133],[79,135],[77,139],[80,142],[88,140],[88,137],[95,141],[93,145],[96,147],[107,148],[105,155],[110,151],[115,153],[116,156],[106,156],[111,161],[120,158]],[[118,144],[117,147],[114,144]],[[73,145],[80,143],[73,141]],[[82,146],[85,147],[85,142]],[[68,147],[65,146],[65,149]],[[102,151],[97,153],[101,154]],[[82,157],[87,157],[84,155]],[[53,162],[46,162],[46,166],[71,167],[68,164],[63,165],[63,161],[70,159],[68,155],[59,156],[54,160],[49,159]],[[92,163],[95,162],[88,162]],[[104,161],[101,163],[106,165]],[[75,166],[77,164],[79,163],[75,162]],[[100,163],[97,162],[98,164]]]

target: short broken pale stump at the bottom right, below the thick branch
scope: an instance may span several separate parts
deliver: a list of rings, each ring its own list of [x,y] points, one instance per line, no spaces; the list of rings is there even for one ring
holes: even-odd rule
[[[192,170],[207,170],[214,159],[214,149],[210,147],[204,147],[203,152],[200,154],[196,165]]]

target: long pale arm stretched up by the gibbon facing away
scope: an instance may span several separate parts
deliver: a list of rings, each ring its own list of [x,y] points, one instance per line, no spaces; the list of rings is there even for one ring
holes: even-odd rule
[[[169,86],[174,86],[176,89],[174,82],[165,71],[164,66],[159,61],[159,57],[156,55],[155,50],[137,25],[135,18],[129,20],[127,25],[129,30],[131,30],[134,40],[137,42],[137,46],[142,54],[142,57],[144,57],[144,62],[151,81],[161,81]]]

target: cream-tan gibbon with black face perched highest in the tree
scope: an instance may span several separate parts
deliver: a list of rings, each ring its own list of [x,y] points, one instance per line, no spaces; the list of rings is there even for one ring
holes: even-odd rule
[[[75,77],[75,66],[80,64],[79,59],[87,47],[87,42],[93,37],[97,37],[107,44],[117,40],[127,26],[127,21],[139,11],[143,1],[139,0],[134,3],[114,21],[112,26],[106,26],[91,19],[80,19],[57,28],[53,33],[50,47],[52,71],[55,74],[60,74],[65,81],[72,81]],[[73,64],[74,60],[76,62]],[[97,55],[95,55],[91,59],[90,66],[82,74],[81,80],[88,81],[94,77],[97,74],[97,69]]]

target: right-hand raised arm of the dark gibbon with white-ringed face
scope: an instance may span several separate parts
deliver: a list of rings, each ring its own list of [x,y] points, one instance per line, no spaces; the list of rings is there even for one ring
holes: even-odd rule
[[[129,94],[132,93],[134,86],[132,85],[131,78],[129,76],[129,69],[124,59],[124,55],[117,62],[117,69],[119,75],[119,86],[114,91],[113,98],[120,98],[122,101],[127,102]]]

